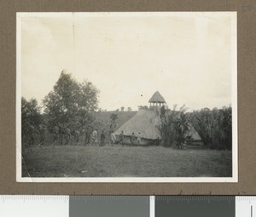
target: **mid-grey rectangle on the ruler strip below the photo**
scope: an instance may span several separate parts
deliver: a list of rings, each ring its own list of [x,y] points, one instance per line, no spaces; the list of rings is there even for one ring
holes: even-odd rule
[[[69,217],[149,217],[149,197],[71,196]]]

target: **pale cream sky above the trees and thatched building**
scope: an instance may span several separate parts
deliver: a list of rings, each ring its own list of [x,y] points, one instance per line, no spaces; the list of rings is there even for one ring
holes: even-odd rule
[[[21,95],[41,102],[66,70],[78,82],[93,83],[101,91],[99,106],[108,111],[148,106],[156,90],[169,107],[229,106],[235,18],[234,13],[22,14]]]

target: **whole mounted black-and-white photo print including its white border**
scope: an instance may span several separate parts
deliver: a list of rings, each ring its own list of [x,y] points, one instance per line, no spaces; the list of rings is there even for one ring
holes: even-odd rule
[[[16,20],[17,181],[238,181],[236,12]]]

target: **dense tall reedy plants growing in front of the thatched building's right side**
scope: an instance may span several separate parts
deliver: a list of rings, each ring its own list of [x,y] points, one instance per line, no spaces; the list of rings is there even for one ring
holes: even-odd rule
[[[184,106],[176,111],[160,110],[159,130],[161,143],[182,149],[191,141],[189,131],[193,128],[201,137],[204,146],[210,149],[231,150],[232,149],[232,108],[223,107],[212,110],[205,108],[200,111],[186,112]]]

